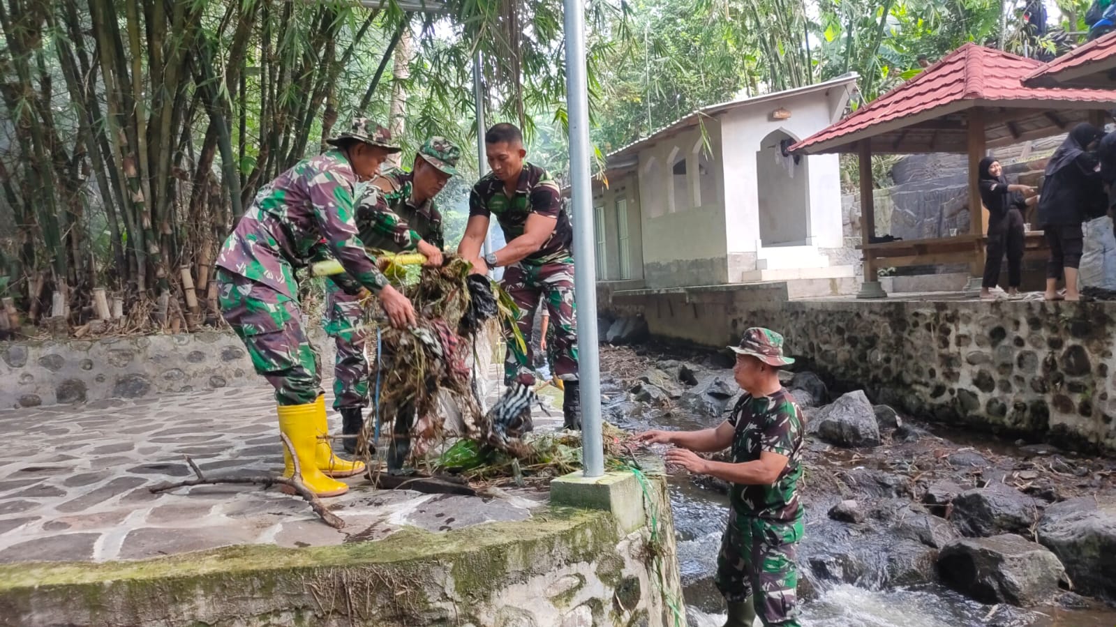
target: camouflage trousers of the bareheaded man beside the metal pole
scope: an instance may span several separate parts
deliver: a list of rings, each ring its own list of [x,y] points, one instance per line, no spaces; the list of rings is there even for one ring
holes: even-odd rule
[[[560,379],[577,380],[577,305],[574,301],[573,260],[542,266],[509,266],[503,272],[501,287],[519,307],[516,325],[527,344],[525,353],[511,329],[504,329],[508,345],[503,363],[504,384],[510,385],[513,379],[535,382],[531,329],[540,299],[550,311],[550,328],[554,329],[554,340],[548,341],[548,351],[552,351],[554,356],[551,370]]]

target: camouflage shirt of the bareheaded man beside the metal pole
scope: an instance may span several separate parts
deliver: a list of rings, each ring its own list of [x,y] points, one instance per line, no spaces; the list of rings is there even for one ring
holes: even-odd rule
[[[570,243],[574,231],[569,225],[569,216],[561,206],[561,193],[558,184],[546,170],[523,162],[523,171],[519,173],[519,185],[516,193],[508,196],[503,191],[503,181],[489,173],[481,179],[469,194],[469,215],[496,214],[497,222],[503,229],[503,239],[511,241],[523,234],[527,216],[532,213],[556,218],[558,222],[542,247],[526,259],[523,263],[541,266],[555,261],[565,261],[571,257]]]

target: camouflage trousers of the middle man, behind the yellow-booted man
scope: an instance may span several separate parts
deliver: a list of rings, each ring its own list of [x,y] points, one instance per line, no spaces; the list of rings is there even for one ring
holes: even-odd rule
[[[355,330],[365,322],[357,297],[326,283],[326,334],[334,338],[334,408],[368,405],[368,358],[364,348],[367,332]]]

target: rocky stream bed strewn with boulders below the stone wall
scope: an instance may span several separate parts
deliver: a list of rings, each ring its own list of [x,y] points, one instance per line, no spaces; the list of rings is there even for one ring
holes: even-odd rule
[[[715,426],[741,394],[723,356],[603,351],[606,411],[624,428]],[[807,419],[805,598],[819,585],[940,582],[984,604],[1116,602],[1116,462],[931,430],[863,390],[831,394],[809,372],[780,378]]]

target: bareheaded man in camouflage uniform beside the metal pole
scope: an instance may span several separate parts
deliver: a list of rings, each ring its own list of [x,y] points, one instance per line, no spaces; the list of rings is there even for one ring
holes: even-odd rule
[[[550,310],[554,327],[554,374],[565,382],[562,416],[566,428],[581,428],[577,380],[577,307],[574,301],[574,231],[562,209],[558,184],[546,170],[525,162],[523,136],[511,124],[497,124],[484,135],[492,172],[473,186],[469,196],[469,223],[458,254],[473,263],[473,271],[506,267],[501,286],[519,307],[519,331],[531,337],[535,310],[540,299]],[[496,214],[508,244],[480,257],[489,221]],[[535,384],[533,350],[526,353],[506,329],[508,354],[504,385]]]

